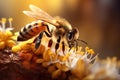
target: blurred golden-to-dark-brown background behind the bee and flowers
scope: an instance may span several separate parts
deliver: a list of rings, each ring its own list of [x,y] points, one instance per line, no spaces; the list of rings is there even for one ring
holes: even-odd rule
[[[120,0],[0,0],[0,18],[12,17],[14,31],[19,31],[34,21],[22,13],[29,10],[29,4],[78,27],[80,39],[88,42],[101,58],[120,59]]]

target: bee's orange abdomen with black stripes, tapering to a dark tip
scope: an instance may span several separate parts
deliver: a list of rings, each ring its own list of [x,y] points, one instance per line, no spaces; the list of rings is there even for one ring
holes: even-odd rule
[[[35,22],[32,22],[31,24],[28,24],[25,27],[23,27],[19,32],[17,41],[28,40],[28,39],[36,36],[41,31],[45,30],[46,27],[43,23],[44,23],[43,21],[35,21]]]

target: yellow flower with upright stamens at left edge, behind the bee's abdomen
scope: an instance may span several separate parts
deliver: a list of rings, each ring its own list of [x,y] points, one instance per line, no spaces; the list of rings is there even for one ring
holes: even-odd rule
[[[5,47],[11,48],[14,46],[16,43],[12,39],[13,33],[11,30],[12,28],[12,18],[9,18],[9,24],[10,27],[6,28],[5,23],[6,23],[6,18],[2,18],[1,20],[1,25],[0,25],[0,50],[4,49]]]

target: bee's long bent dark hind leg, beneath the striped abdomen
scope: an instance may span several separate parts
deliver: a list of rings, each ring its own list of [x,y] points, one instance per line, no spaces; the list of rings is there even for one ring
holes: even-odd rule
[[[46,31],[41,32],[41,33],[39,34],[39,36],[37,37],[36,41],[35,41],[35,42],[36,42],[36,43],[35,43],[35,48],[36,48],[36,49],[38,49],[38,47],[39,47],[40,44],[41,44],[41,40],[42,40],[42,37],[43,37],[43,33],[45,33],[47,37],[51,37],[51,36],[52,36],[51,34],[47,33]]]

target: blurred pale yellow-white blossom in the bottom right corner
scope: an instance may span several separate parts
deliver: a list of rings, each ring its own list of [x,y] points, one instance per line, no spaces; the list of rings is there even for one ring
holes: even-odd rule
[[[87,76],[86,79],[97,79],[97,80],[119,80],[119,61],[116,57],[107,58],[106,60],[96,60],[96,62],[91,66],[91,74]]]

